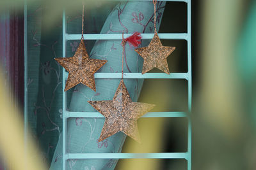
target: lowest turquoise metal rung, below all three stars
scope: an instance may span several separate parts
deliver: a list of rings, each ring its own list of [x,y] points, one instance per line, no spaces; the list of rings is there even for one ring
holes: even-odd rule
[[[188,159],[188,152],[173,153],[67,153],[68,159]]]

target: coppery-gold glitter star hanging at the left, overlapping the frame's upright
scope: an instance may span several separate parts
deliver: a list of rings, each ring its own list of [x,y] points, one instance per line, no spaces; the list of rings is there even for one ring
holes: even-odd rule
[[[61,57],[55,60],[68,71],[65,92],[79,83],[83,83],[83,85],[96,91],[93,74],[108,62],[107,60],[90,59],[83,39],[81,39],[74,57]]]

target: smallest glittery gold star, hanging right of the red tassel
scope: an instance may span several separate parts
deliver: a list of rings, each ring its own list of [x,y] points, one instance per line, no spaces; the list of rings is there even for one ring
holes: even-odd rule
[[[166,74],[170,74],[167,57],[175,50],[175,46],[163,46],[157,32],[155,32],[148,46],[134,50],[144,59],[142,74],[147,73],[154,67]]]

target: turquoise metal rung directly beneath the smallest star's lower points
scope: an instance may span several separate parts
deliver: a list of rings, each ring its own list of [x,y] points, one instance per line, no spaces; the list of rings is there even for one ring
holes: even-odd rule
[[[188,80],[188,73],[124,73],[124,78],[154,78],[154,79],[186,79]],[[68,78],[68,72],[65,72],[65,79]],[[122,78],[122,73],[95,73],[94,78]]]

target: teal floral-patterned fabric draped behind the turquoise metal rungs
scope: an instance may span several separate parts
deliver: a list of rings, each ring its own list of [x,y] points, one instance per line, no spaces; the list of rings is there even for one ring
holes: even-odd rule
[[[157,3],[157,29],[161,22],[164,2]],[[124,1],[86,10],[86,32],[102,34],[154,32],[154,5],[151,1]],[[112,10],[112,11],[111,11]],[[100,11],[100,12],[98,12]],[[29,125],[38,146],[42,148],[45,162],[51,162],[54,170],[62,169],[62,68],[54,57],[62,55],[61,17],[54,29],[47,32],[44,27],[42,6],[33,7],[28,13],[28,113]],[[108,17],[107,17],[108,16]],[[107,17],[107,18],[106,18]],[[106,20],[105,20],[106,19]],[[104,24],[104,25],[103,25]],[[103,25],[103,27],[102,27]],[[81,31],[81,11],[67,16],[67,32],[79,34]],[[141,46],[147,46],[150,39],[143,39]],[[90,57],[108,62],[98,72],[120,73],[122,70],[121,40],[85,41]],[[94,45],[93,45],[94,43]],[[67,41],[67,57],[74,55],[79,40]],[[93,47],[93,48],[92,48]],[[91,50],[92,49],[92,50]],[[126,45],[124,73],[140,73],[143,59]],[[39,68],[39,69],[38,69]],[[124,80],[132,101],[138,101],[143,80]],[[95,111],[89,100],[110,100],[118,87],[119,79],[96,79],[96,89],[77,85],[68,91],[69,111]],[[68,153],[121,152],[126,136],[122,132],[98,142],[104,118],[68,118]],[[68,160],[68,169],[114,169],[117,160],[90,159]]]

